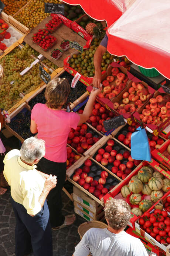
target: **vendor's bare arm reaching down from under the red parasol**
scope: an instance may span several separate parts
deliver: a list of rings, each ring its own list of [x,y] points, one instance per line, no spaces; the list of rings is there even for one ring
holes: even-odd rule
[[[102,79],[102,72],[101,72],[102,56],[106,52],[106,50],[107,50],[106,47],[99,45],[94,54],[93,62],[95,66],[95,75],[93,78],[93,85],[96,88],[100,87],[100,83]]]

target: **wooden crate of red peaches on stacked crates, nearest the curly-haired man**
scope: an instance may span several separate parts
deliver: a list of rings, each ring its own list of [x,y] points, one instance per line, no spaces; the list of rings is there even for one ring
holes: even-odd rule
[[[79,159],[67,175],[68,181],[100,204],[102,197],[120,183],[120,180],[101,168],[89,155]]]

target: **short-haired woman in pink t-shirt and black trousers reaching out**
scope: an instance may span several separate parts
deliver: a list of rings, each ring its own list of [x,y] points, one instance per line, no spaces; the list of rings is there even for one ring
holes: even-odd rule
[[[50,81],[45,89],[46,104],[35,104],[31,112],[31,132],[45,141],[45,156],[37,167],[47,174],[57,176],[57,185],[48,195],[51,226],[54,230],[66,227],[75,221],[75,215],[63,216],[61,191],[65,182],[67,138],[71,128],[88,120],[96,95],[101,89],[93,89],[83,114],[62,110],[67,101],[70,85],[65,78]]]

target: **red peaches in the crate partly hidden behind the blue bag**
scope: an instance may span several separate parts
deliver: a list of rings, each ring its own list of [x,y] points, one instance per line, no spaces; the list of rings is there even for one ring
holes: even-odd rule
[[[136,122],[132,122],[132,125],[125,125],[122,129],[120,129],[116,134],[114,131],[112,135],[114,136],[115,140],[122,142],[126,145],[129,149],[131,148],[131,136],[132,133],[136,131],[136,128],[139,127],[139,124]],[[155,136],[154,134],[148,132],[146,130],[147,137],[149,140],[150,151],[152,152],[154,149],[159,148],[164,142],[165,139],[161,138],[160,136]]]

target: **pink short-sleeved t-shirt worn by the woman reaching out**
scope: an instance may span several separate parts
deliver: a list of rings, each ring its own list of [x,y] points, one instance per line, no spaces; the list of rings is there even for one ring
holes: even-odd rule
[[[67,138],[71,128],[76,129],[80,116],[74,112],[48,108],[35,104],[31,119],[37,124],[38,138],[45,141],[45,158],[64,163],[67,160]]]

